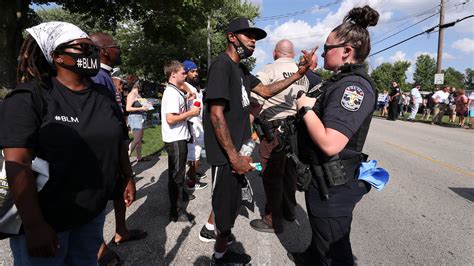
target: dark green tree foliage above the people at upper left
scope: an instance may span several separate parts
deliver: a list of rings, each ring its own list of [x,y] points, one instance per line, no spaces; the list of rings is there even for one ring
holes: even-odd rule
[[[5,81],[7,85],[0,84],[0,87],[12,87],[15,69],[11,66],[16,62],[21,34],[26,27],[40,22],[67,21],[87,33],[107,32],[122,47],[123,64],[120,66],[122,72],[161,82],[164,81],[163,65],[170,59],[179,61],[191,59],[198,64],[201,76],[206,76],[208,19],[210,19],[212,59],[226,47],[224,30],[230,20],[238,16],[254,20],[259,15],[258,7],[247,2],[241,3],[239,0],[19,0],[17,2],[21,2],[23,13],[30,15],[23,16],[22,23],[11,27],[12,31],[19,32],[17,38],[19,40],[7,40],[10,46],[3,52],[10,56],[0,59],[2,60],[0,71],[5,67],[4,76],[7,77]],[[36,14],[29,9],[31,3],[39,5],[54,3],[57,6],[37,8],[38,14]],[[15,4],[9,5],[8,8],[14,10]],[[6,25],[14,23],[9,22]],[[11,32],[3,32],[0,29],[0,37],[11,35]],[[244,63],[252,69],[255,58],[249,58]]]

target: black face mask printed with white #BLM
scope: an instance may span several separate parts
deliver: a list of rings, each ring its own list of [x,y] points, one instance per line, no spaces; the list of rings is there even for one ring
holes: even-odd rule
[[[99,73],[100,70],[100,61],[99,61],[99,50],[98,49],[89,49],[87,52],[82,53],[70,53],[61,51],[60,54],[67,55],[76,61],[74,65],[66,65],[60,63],[64,68],[67,68],[74,73],[77,73],[81,76],[93,77]]]

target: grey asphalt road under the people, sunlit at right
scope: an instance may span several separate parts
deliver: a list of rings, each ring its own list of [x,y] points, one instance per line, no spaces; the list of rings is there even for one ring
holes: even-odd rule
[[[375,118],[365,152],[390,173],[388,186],[372,190],[357,205],[352,225],[354,256],[359,265],[474,264],[474,130]],[[141,241],[111,246],[125,265],[208,264],[213,244],[198,239],[210,210],[210,188],[196,191],[188,210],[195,223],[168,222],[167,158],[135,165],[138,199],[128,210],[129,228],[148,231]],[[207,172],[210,175],[210,171]],[[210,182],[209,178],[204,179]],[[264,208],[261,179],[250,175],[257,201],[243,211],[231,248],[247,252],[254,265],[288,265],[288,251],[303,251],[311,231],[304,197],[297,193],[297,222],[279,235],[258,233],[249,221]],[[104,237],[115,228],[111,207]],[[8,241],[0,242],[0,265],[11,265]]]

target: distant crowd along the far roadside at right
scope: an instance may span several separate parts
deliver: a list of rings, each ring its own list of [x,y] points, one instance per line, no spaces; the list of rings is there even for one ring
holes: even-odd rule
[[[421,110],[421,117],[418,120],[428,121],[432,125],[441,125],[443,117],[448,115],[448,123],[457,127],[472,128],[474,91],[467,96],[464,89],[443,86],[441,89],[422,95],[420,84],[415,84],[409,93],[403,93],[398,83],[393,81],[390,93],[383,91],[378,95],[377,110],[380,111],[380,116],[392,121],[410,113],[407,118],[410,122],[417,120],[416,115]],[[466,118],[469,118],[469,125],[466,123]]]

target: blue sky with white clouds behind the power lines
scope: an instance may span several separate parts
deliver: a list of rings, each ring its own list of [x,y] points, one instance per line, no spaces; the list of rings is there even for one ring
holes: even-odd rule
[[[439,0],[247,0],[261,10],[256,25],[267,31],[267,38],[257,42],[254,57],[255,70],[273,61],[275,43],[290,39],[296,49],[322,47],[329,32],[341,23],[347,12],[355,6],[369,4],[380,13],[377,26],[370,27],[372,53],[423,32],[439,23]],[[474,15],[474,0],[445,0],[444,22]],[[397,32],[401,31],[397,34]],[[391,35],[394,36],[390,37]],[[390,37],[390,38],[388,38]],[[412,63],[407,71],[412,81],[415,60],[420,54],[436,59],[438,32],[421,35],[401,45],[369,58],[371,69],[383,62],[406,60]],[[321,49],[319,65],[323,65]],[[464,73],[474,68],[474,18],[466,19],[444,30],[443,69],[453,67]],[[254,71],[255,71],[254,70]]]

